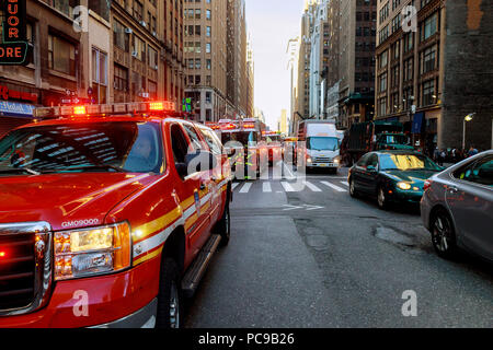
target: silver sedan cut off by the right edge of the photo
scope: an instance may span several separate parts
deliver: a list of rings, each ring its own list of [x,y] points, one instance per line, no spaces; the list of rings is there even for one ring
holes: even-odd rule
[[[440,257],[462,248],[493,261],[493,150],[431,177],[421,217]]]

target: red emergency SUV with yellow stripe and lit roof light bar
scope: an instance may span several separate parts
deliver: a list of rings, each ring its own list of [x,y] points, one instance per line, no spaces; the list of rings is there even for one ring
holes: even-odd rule
[[[39,108],[0,140],[0,328],[180,327],[230,237],[220,140],[171,103]]]

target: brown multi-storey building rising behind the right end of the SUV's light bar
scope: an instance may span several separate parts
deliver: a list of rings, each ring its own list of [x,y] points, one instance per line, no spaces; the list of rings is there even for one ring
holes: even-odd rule
[[[112,2],[114,102],[184,97],[183,1]]]

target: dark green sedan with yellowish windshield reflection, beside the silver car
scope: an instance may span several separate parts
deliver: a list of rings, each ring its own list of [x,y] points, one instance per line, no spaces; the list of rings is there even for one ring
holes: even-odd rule
[[[443,170],[426,155],[414,151],[371,152],[349,170],[349,194],[352,197],[372,196],[380,209],[391,203],[419,205],[426,179]]]

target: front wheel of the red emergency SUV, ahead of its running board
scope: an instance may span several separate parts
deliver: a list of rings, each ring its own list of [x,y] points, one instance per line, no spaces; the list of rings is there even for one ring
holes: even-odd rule
[[[167,258],[161,267],[156,328],[181,327],[180,273],[176,262]]]

